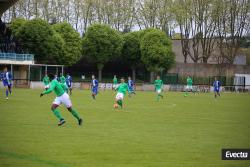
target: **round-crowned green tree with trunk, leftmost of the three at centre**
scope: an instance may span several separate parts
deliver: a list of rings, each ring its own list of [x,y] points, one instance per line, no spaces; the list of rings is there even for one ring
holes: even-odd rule
[[[100,81],[104,65],[120,55],[122,44],[119,32],[108,25],[93,24],[87,29],[83,38],[83,55],[97,65]]]

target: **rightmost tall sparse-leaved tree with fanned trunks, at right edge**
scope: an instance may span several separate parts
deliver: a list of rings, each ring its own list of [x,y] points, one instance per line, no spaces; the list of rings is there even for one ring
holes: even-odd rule
[[[240,40],[246,30],[250,17],[249,0],[217,1],[217,33],[218,46],[226,63],[233,64],[240,47]]]

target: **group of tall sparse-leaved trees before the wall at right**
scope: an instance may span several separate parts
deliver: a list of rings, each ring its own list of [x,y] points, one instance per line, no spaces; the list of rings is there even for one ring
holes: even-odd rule
[[[184,62],[234,62],[244,35],[250,33],[249,0],[176,0],[173,9],[181,32]],[[189,40],[191,38],[191,40]]]

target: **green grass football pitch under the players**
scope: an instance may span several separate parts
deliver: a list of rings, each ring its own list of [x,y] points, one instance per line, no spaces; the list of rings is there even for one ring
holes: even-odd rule
[[[223,161],[222,148],[250,148],[250,94],[154,92],[125,98],[113,108],[114,92],[74,90],[72,102],[84,125],[60,107],[63,127],[50,111],[54,94],[0,90],[2,167],[249,167],[250,161]]]

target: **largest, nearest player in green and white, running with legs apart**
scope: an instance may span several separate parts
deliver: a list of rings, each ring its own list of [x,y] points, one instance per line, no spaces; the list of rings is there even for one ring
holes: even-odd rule
[[[64,118],[61,116],[60,114],[60,110],[58,110],[58,106],[60,106],[61,104],[64,104],[65,107],[68,109],[68,111],[77,119],[78,124],[82,125],[82,118],[80,118],[78,112],[72,108],[72,103],[70,100],[69,95],[65,92],[65,90],[62,87],[62,84],[59,83],[56,79],[54,79],[54,75],[53,74],[49,74],[49,80],[50,80],[50,87],[48,90],[43,91],[40,94],[40,97],[42,97],[45,94],[49,94],[52,91],[54,91],[54,93],[56,94],[56,98],[54,100],[54,102],[51,105],[51,110],[53,111],[53,113],[55,114],[55,116],[59,119],[59,123],[58,126],[61,126],[65,123]]]

